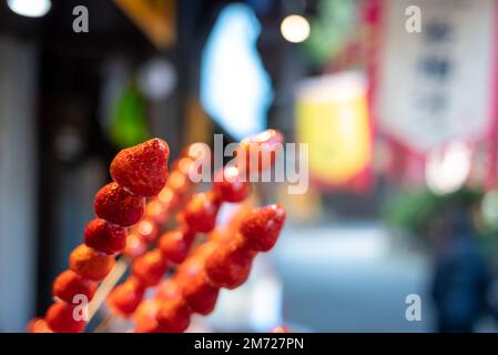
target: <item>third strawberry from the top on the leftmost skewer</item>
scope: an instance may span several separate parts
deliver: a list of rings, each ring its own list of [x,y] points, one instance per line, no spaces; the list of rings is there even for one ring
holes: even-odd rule
[[[126,230],[95,219],[84,229],[84,244],[108,255],[121,253],[126,246]]]

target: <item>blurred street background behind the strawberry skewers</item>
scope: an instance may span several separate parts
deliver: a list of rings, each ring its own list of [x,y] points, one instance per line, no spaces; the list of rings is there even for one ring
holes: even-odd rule
[[[498,0],[0,0],[0,332],[52,303],[120,150],[266,129],[295,176],[221,215],[285,229],[189,331],[498,331],[497,29]],[[182,209],[153,206],[157,237]]]

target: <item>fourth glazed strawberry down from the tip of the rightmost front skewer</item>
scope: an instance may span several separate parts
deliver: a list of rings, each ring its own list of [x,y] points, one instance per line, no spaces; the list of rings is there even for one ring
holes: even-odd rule
[[[182,297],[163,301],[156,321],[165,333],[183,333],[189,327],[192,312]]]

